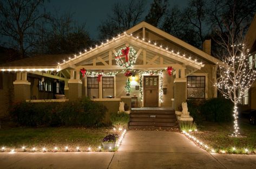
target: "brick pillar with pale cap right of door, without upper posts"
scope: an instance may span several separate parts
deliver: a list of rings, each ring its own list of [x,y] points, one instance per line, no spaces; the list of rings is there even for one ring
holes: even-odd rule
[[[181,103],[187,99],[187,79],[174,80],[174,108],[179,110]]]

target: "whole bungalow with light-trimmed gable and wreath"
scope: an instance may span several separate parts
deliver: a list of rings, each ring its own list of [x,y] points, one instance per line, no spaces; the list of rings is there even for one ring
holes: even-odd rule
[[[211,40],[206,40],[203,48],[205,52],[141,22],[76,55],[43,55],[9,62],[0,66],[0,111],[7,109],[8,99],[40,102],[54,99],[55,94],[64,94],[70,101],[88,96],[109,111],[117,111],[120,101],[132,102],[133,107],[178,110],[187,98],[217,95],[213,83],[219,60],[211,56]],[[125,49],[129,49],[129,56]],[[120,60],[116,58],[119,55]],[[134,65],[129,67],[126,61]],[[168,67],[172,67],[171,75]],[[130,96],[124,90],[127,78]]]

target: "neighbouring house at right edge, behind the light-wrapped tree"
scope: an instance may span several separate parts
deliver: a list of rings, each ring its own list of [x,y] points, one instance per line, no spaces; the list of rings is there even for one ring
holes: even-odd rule
[[[249,61],[252,61],[253,58],[256,59],[256,15],[252,20],[245,39],[247,40],[247,47],[251,49]],[[251,68],[256,69],[256,63],[251,65]],[[241,104],[243,110],[256,109],[256,81],[242,99]]]

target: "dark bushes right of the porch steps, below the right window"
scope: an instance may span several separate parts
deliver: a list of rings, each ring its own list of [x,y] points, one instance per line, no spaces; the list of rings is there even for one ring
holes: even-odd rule
[[[234,104],[224,97],[209,100],[187,100],[188,111],[196,124],[203,121],[231,122]]]

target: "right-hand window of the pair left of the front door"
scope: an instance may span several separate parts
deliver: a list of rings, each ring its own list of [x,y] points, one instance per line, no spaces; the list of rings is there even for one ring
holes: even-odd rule
[[[114,96],[114,77],[102,77],[102,98]]]

